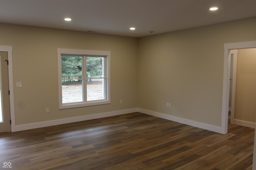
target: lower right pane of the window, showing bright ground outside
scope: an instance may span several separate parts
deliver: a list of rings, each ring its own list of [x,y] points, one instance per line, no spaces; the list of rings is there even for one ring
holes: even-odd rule
[[[87,101],[106,99],[104,78],[87,79]]]

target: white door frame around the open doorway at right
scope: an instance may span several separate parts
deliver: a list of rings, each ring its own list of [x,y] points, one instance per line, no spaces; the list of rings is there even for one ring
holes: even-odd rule
[[[222,120],[221,133],[228,133],[228,100],[230,86],[230,51],[232,49],[256,48],[256,41],[224,44],[224,72],[223,72],[223,91],[222,91]]]

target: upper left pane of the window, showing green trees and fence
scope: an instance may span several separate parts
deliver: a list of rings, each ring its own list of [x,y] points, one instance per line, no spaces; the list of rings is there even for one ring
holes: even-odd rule
[[[62,79],[82,78],[82,57],[62,56],[61,57]]]

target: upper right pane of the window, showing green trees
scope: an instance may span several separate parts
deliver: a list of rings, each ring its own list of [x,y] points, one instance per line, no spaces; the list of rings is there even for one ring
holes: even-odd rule
[[[104,57],[86,57],[86,76],[87,78],[102,78]]]

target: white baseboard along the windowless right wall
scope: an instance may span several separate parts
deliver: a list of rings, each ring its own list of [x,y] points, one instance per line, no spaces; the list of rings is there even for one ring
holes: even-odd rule
[[[170,120],[170,121],[176,121],[176,122],[183,123],[183,124],[186,124],[186,125],[190,125],[190,126],[198,127],[198,128],[201,128],[201,129],[206,129],[206,130],[209,130],[209,131],[214,131],[214,132],[223,134],[223,131],[222,131],[221,127],[208,125],[208,124],[204,124],[204,123],[200,123],[200,122],[196,122],[196,121],[192,121],[192,120],[188,120],[188,119],[183,119],[183,118],[175,117],[175,116],[171,116],[171,115],[166,115],[166,114],[158,113],[158,112],[154,112],[154,111],[149,111],[149,110],[145,110],[145,109],[140,109],[140,108],[138,109],[138,111],[140,113],[160,117],[160,118],[167,119],[167,120]]]

